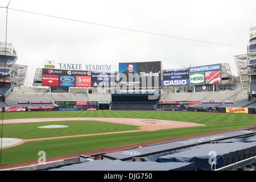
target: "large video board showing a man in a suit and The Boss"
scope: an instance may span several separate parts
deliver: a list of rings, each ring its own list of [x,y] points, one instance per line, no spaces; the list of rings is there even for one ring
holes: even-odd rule
[[[119,63],[118,87],[158,88],[161,81],[161,61]]]

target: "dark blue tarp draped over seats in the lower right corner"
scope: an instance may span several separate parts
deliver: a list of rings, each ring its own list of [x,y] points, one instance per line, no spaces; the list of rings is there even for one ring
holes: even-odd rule
[[[191,147],[191,150],[160,156],[156,159],[156,162],[195,163],[197,169],[209,171],[211,169],[209,160],[212,160],[213,158],[210,152],[215,152],[217,168],[220,168],[255,156],[256,142],[204,144],[197,147]]]

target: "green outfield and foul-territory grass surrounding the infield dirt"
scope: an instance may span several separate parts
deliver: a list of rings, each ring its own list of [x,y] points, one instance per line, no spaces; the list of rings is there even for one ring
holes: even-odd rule
[[[147,118],[194,122],[207,126],[26,142],[20,146],[3,149],[2,165],[38,160],[39,151],[46,151],[47,158],[51,158],[126,144],[183,137],[185,135],[208,133],[211,131],[236,129],[256,124],[256,115],[253,114],[195,113],[180,111],[52,111],[47,113],[41,111],[5,113],[4,117],[5,119],[52,117]],[[4,125],[3,128],[4,137],[6,125]],[[29,134],[27,134],[27,136],[29,136]]]

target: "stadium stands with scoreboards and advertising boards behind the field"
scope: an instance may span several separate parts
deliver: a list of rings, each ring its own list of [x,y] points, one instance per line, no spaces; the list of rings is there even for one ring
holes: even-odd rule
[[[15,65],[18,56],[13,44],[1,43],[4,106],[49,106],[52,110],[129,110],[134,106],[138,110],[219,111],[216,107],[227,106],[253,109],[255,32],[256,27],[250,28],[247,54],[234,56],[238,76],[232,75],[227,63],[178,69],[163,69],[162,61],[119,63],[119,70],[110,72],[55,69],[54,61],[48,61],[44,68],[36,69],[32,87],[24,86],[27,66]]]

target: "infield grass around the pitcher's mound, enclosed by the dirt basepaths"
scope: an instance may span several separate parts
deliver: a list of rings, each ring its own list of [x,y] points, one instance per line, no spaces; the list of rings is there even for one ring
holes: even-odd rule
[[[39,126],[66,125],[60,129],[39,129]],[[108,133],[114,131],[139,130],[139,126],[124,125],[119,123],[108,123],[101,121],[56,121],[56,122],[35,122],[35,123],[13,123],[3,126],[4,138],[47,138],[61,137],[68,135],[82,135],[93,133]],[[0,126],[0,130],[2,125]]]

